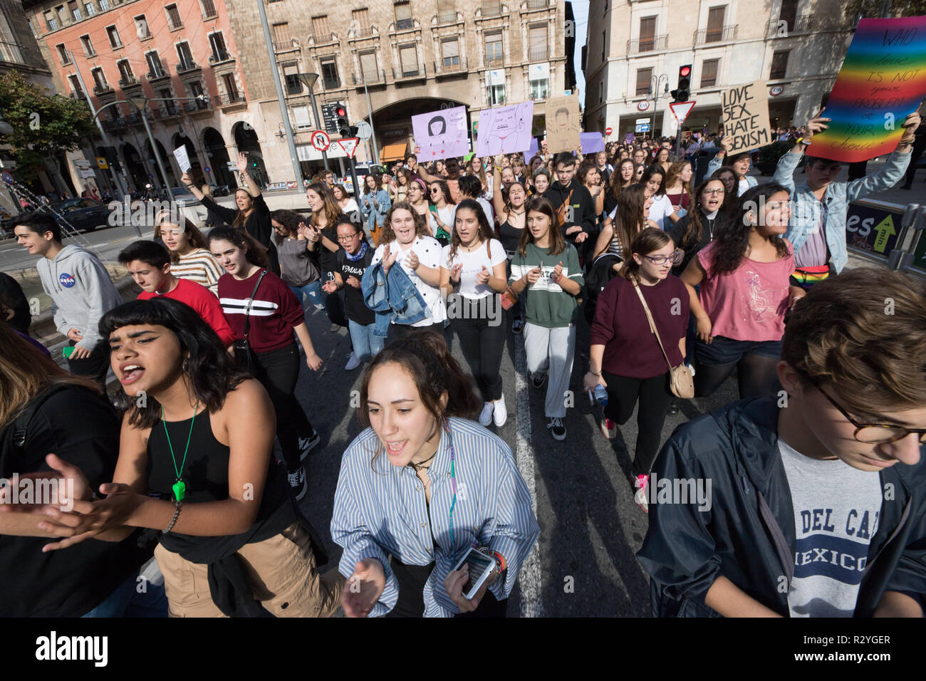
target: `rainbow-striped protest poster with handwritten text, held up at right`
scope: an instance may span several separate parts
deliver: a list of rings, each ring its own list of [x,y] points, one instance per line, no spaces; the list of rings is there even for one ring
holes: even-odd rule
[[[890,154],[926,95],[926,17],[862,19],[807,154],[855,163]]]

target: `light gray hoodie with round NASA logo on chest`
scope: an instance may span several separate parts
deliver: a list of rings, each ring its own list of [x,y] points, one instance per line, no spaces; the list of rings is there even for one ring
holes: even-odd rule
[[[83,334],[78,345],[93,350],[101,340],[100,318],[122,304],[106,267],[86,248],[69,244],[55,259],[40,259],[35,268],[55,304],[58,332],[68,335],[70,329],[77,329]]]

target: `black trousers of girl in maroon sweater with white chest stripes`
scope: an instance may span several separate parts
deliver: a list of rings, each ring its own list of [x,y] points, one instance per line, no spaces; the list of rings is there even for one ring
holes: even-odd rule
[[[299,435],[312,432],[306,412],[295,398],[299,379],[299,348],[295,344],[278,350],[257,352],[257,378],[267,388],[273,410],[277,412],[277,438],[286,468],[294,471],[301,465]]]

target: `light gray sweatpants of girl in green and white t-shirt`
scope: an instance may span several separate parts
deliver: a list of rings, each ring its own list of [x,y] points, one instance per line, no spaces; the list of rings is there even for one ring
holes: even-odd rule
[[[566,416],[566,393],[572,375],[572,358],[576,349],[574,324],[547,329],[531,322],[524,324],[524,351],[528,372],[549,372],[546,382],[547,418]]]

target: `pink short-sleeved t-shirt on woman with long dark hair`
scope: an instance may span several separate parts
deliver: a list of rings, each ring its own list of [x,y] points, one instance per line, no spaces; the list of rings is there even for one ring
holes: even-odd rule
[[[795,252],[775,262],[743,259],[727,274],[713,275],[711,263],[717,242],[711,242],[697,258],[707,272],[699,298],[713,324],[711,335],[733,340],[778,341],[784,335],[788,309],[788,277],[795,271]]]

